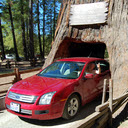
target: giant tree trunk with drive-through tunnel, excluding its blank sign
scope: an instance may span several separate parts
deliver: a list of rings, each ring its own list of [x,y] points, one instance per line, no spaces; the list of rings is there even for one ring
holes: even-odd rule
[[[86,52],[90,49],[88,47],[90,45],[97,49],[97,55],[99,53],[103,55],[105,50],[103,44],[105,44],[109,53],[111,77],[114,82],[114,97],[117,97],[128,88],[128,1],[108,1],[107,22],[104,24],[85,26],[71,26],[69,24],[72,4],[87,4],[98,1],[104,0],[63,0],[58,16],[54,43],[44,67],[55,59],[72,57],[71,53],[74,50],[72,46],[76,48],[76,51],[77,46],[80,45],[79,49],[83,49],[82,46],[84,46]],[[76,45],[76,43],[79,45]],[[100,44],[102,48],[99,48]],[[77,53],[79,54],[79,52]],[[81,54],[79,55],[81,56]]]

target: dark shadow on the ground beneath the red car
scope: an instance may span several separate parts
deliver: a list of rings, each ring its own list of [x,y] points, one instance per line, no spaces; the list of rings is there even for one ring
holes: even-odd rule
[[[39,125],[39,126],[56,126],[56,125],[71,123],[74,121],[79,121],[81,119],[84,119],[87,116],[89,116],[90,114],[92,114],[95,111],[95,107],[100,104],[101,104],[101,97],[98,97],[94,101],[83,106],[80,109],[79,113],[76,115],[76,117],[71,120],[65,120],[63,118],[58,118],[58,119],[54,119],[54,120],[43,120],[42,121],[42,120],[26,119],[26,118],[22,118],[22,117],[19,117],[19,118],[27,123],[31,123],[31,124],[35,124],[35,125]]]

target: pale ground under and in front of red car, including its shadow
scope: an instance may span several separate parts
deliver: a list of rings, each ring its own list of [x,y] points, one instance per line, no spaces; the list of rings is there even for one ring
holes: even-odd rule
[[[0,128],[77,128],[81,122],[95,111],[95,107],[101,103],[101,97],[83,106],[75,118],[64,120],[32,120],[19,118],[6,110],[0,111]]]

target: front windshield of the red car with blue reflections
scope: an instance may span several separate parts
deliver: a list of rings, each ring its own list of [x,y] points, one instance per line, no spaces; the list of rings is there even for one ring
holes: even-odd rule
[[[51,78],[76,79],[80,76],[84,65],[85,63],[83,62],[58,61],[48,66],[37,75]]]

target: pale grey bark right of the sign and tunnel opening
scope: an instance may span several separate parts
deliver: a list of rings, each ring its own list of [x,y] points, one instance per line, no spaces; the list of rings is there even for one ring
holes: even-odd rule
[[[111,0],[109,24],[104,31],[108,47],[114,95],[128,89],[128,1]]]

